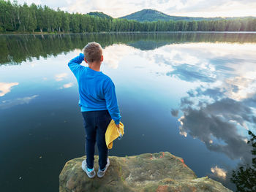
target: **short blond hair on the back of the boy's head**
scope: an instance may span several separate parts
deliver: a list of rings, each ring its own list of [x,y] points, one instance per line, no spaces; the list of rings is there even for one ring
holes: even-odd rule
[[[83,48],[83,54],[89,63],[94,61],[99,62],[102,57],[102,46],[100,46],[97,42],[89,42]]]

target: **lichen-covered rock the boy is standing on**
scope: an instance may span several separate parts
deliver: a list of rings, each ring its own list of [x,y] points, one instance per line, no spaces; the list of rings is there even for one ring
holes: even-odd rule
[[[197,178],[182,158],[169,152],[110,156],[105,177],[89,179],[81,169],[86,156],[68,161],[59,175],[60,192],[86,191],[228,191],[208,177]],[[94,168],[98,169],[95,155]]]

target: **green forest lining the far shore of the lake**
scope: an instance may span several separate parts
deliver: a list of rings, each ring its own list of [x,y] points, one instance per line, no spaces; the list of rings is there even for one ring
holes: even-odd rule
[[[256,18],[138,22],[0,0],[0,32],[256,31]]]

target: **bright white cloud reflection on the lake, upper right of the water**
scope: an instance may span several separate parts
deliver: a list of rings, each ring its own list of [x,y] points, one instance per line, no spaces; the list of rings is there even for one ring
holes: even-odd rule
[[[225,89],[225,96],[241,101],[256,93],[255,54],[252,52],[255,49],[256,45],[249,43],[241,45],[200,42],[165,45],[157,50],[140,52],[140,54],[144,54],[144,57],[152,63],[165,65],[166,69],[169,66],[170,73],[177,67],[181,69],[182,64],[188,64],[183,70],[200,72],[200,75],[203,75],[200,76],[200,80],[205,77],[204,80],[209,82],[206,87]],[[223,71],[223,67],[230,70]],[[176,77],[177,74],[174,76]],[[217,81],[213,83],[211,80]],[[200,98],[200,101],[202,100],[203,98]]]

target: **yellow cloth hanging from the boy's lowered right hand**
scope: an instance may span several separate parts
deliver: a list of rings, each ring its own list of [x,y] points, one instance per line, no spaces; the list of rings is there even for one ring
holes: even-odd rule
[[[116,126],[116,123],[114,120],[111,120],[108,124],[107,131],[105,133],[105,139],[106,139],[106,145],[108,149],[112,149],[113,147],[113,141],[118,138],[119,136],[124,135],[124,124],[119,123],[119,128]]]

